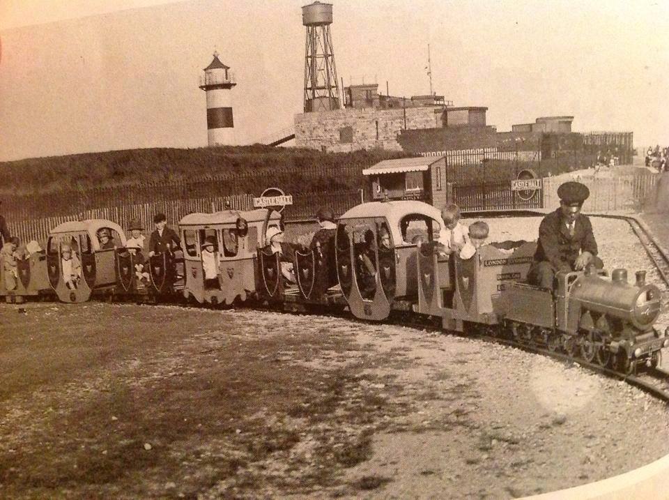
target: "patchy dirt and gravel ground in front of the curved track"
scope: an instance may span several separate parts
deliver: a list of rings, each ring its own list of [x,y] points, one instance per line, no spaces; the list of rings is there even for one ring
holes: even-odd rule
[[[0,317],[0,497],[509,498],[669,452],[663,404],[468,338],[175,306]]]

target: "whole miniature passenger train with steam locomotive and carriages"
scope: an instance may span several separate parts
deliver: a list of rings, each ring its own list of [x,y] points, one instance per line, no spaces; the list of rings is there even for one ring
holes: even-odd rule
[[[660,291],[645,283],[643,271],[633,284],[624,269],[615,269],[610,277],[594,270],[557,273],[555,291],[528,285],[537,243],[490,243],[470,259],[445,255],[437,244],[440,212],[422,202],[360,204],[339,218],[322,246],[293,245],[286,252],[267,241],[280,225],[272,209],[192,213],[179,222],[181,248],[146,259],[126,248],[114,222],[66,222],[52,229],[45,251],[19,262],[15,289],[0,280],[0,295],[8,301],[57,296],[70,303],[96,296],[210,305],[252,301],[292,311],[348,308],[370,321],[399,311],[440,319],[447,331],[508,336],[626,373],[658,365],[661,349],[669,347],[667,332],[653,326]],[[98,242],[100,229],[112,234],[115,248]],[[217,280],[205,276],[207,241]],[[81,264],[75,285],[66,280],[64,246]]]

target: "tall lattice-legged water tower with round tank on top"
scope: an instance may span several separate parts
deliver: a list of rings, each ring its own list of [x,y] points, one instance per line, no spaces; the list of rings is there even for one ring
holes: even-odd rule
[[[315,1],[302,7],[307,26],[305,46],[305,113],[339,109],[339,86],[330,36],[332,4]]]

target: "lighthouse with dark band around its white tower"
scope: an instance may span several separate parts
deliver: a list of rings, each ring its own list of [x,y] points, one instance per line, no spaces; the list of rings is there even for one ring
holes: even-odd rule
[[[229,66],[225,66],[218,59],[218,52],[214,52],[213,61],[204,68],[204,75],[200,78],[200,89],[207,96],[209,146],[224,146],[234,142],[230,89],[236,84]]]

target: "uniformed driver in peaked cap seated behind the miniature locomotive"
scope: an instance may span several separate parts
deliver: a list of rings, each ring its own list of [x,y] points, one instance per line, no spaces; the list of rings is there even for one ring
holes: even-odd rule
[[[590,190],[570,181],[557,188],[557,196],[560,208],[541,220],[535,262],[528,273],[528,282],[548,289],[553,289],[557,271],[579,271],[591,264],[603,268],[590,219],[580,213]]]

